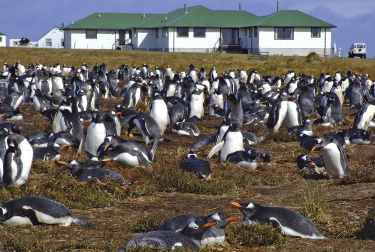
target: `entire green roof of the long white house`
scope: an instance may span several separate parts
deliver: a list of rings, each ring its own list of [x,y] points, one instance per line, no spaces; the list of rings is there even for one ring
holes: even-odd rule
[[[202,5],[176,9],[167,14],[94,13],[73,24],[69,29],[123,30],[161,27],[218,27],[241,28],[250,26],[336,27],[300,11],[281,10],[258,17],[247,11],[211,10]]]

